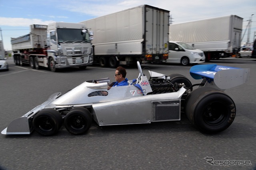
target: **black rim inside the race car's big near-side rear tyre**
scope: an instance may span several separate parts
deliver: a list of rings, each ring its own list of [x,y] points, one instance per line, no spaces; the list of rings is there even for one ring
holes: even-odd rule
[[[205,107],[203,112],[204,122],[210,126],[222,124],[228,115],[226,104],[222,102],[212,102]]]

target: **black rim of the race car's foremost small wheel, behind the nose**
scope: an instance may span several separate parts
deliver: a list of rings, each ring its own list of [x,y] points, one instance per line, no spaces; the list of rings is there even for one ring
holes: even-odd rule
[[[50,117],[41,116],[37,118],[36,125],[40,132],[47,134],[54,130],[55,122]]]

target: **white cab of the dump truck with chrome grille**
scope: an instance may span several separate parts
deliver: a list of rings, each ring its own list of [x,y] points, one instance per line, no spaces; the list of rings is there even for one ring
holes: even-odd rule
[[[50,69],[92,64],[92,35],[81,23],[50,23],[46,31]]]

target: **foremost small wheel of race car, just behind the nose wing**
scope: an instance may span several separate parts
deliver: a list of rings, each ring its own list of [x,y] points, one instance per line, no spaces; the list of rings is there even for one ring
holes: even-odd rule
[[[43,109],[33,119],[33,127],[43,136],[51,136],[58,132],[62,125],[62,116],[55,109]]]

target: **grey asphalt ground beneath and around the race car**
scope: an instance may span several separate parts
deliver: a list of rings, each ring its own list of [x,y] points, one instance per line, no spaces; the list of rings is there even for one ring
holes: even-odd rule
[[[113,68],[88,66],[61,72],[15,66],[0,72],[0,131],[45,102],[55,92],[66,92],[85,80],[109,77]],[[141,125],[93,125],[84,135],[62,127],[57,135],[43,137],[0,134],[0,169],[3,170],[253,170],[256,169],[256,60],[227,58],[204,64],[250,68],[246,84],[225,92],[236,104],[236,118],[225,131],[208,135],[195,129],[182,114],[181,121]],[[183,74],[192,84],[191,66],[142,64],[166,75]],[[127,78],[138,77],[126,67]],[[142,106],[143,107],[143,106]],[[248,165],[247,165],[248,164]]]

